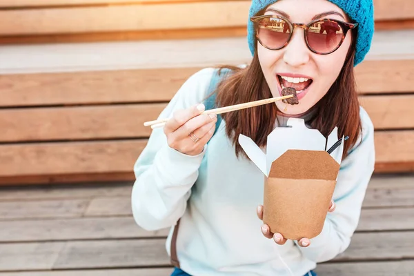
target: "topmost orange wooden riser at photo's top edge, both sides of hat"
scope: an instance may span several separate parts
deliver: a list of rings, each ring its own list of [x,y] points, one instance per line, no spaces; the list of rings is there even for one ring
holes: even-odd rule
[[[246,32],[246,16],[251,3],[250,0],[161,1],[161,5],[158,2],[7,0],[0,3],[0,37],[3,37],[3,43],[19,41],[16,36],[26,39],[30,36],[36,41],[33,36],[39,35],[43,36],[43,41],[47,41],[44,36],[52,36],[49,40],[55,41],[57,38],[54,35],[63,34],[68,35],[66,39],[69,40],[90,40],[93,33],[98,34],[97,40],[103,39],[103,33],[117,39],[142,39],[171,35],[167,32],[170,30],[178,36],[182,36],[184,31],[184,35],[197,37],[197,30],[204,30],[201,37],[232,33],[238,36]],[[177,14],[180,16],[177,17]],[[220,16],[217,17],[217,14]],[[411,0],[376,0],[375,20],[377,30],[411,28],[414,26],[414,6]],[[399,23],[403,20],[404,23]],[[214,34],[215,29],[221,32]],[[155,32],[151,34],[150,31]],[[76,37],[77,34],[80,35]],[[89,37],[81,34],[88,34]]]

